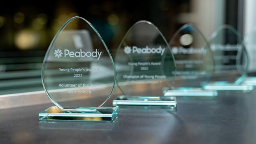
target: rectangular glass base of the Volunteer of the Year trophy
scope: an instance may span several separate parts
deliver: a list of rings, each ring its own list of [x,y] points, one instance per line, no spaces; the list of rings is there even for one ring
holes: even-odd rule
[[[60,109],[57,106],[39,113],[40,121],[113,121],[118,114],[117,107],[102,107],[96,111],[94,108],[76,108]]]

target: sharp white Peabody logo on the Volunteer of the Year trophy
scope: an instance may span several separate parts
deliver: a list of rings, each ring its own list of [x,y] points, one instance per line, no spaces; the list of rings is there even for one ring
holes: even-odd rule
[[[54,52],[54,55],[57,58],[62,57],[62,54],[63,54],[62,50],[60,50],[60,49],[57,49]],[[73,57],[77,57],[77,58],[93,57],[93,58],[97,58],[99,60],[100,56],[102,56],[102,52],[99,52],[98,49],[96,49],[94,52],[84,52],[84,51],[82,51],[82,49],[80,49],[80,51],[73,52],[68,49],[65,49],[64,57],[67,57],[67,56],[69,56],[71,58],[73,58]]]

